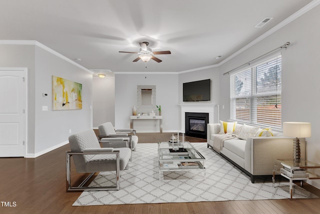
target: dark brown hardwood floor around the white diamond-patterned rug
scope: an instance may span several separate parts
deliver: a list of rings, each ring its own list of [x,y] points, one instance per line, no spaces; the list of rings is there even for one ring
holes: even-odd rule
[[[139,142],[140,138],[145,142],[144,135],[162,141],[172,133],[137,135]],[[65,151],[68,150],[69,146],[65,145],[37,158],[0,158],[0,213],[320,213],[320,198],[72,206],[81,192],[65,192]],[[71,168],[73,181],[84,177],[75,173],[72,164]],[[318,189],[306,183],[304,187],[320,195]]]

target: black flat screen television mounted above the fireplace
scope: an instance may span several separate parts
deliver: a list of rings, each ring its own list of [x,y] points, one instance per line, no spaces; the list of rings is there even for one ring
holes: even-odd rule
[[[183,83],[183,102],[209,101],[210,79]]]

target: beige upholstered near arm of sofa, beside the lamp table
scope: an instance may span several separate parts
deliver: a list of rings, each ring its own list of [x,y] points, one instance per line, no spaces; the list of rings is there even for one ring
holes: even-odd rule
[[[270,175],[274,160],[292,158],[292,137],[254,137],[245,144],[244,168],[252,175]],[[305,158],[305,139],[300,138],[301,158]]]

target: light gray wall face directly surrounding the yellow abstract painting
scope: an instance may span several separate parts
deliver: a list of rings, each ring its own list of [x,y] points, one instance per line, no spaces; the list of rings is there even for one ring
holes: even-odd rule
[[[52,76],[82,84],[81,110],[52,111]],[[42,92],[48,96],[43,97]],[[92,74],[37,46],[34,101],[35,154],[66,142],[71,134],[92,128]],[[42,106],[48,106],[48,111],[42,111]]]

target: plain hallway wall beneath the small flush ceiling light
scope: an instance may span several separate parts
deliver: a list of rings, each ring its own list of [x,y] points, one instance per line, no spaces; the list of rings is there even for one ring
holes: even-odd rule
[[[111,122],[114,124],[114,74],[104,78],[93,77],[93,127]]]

